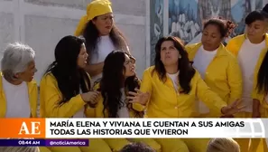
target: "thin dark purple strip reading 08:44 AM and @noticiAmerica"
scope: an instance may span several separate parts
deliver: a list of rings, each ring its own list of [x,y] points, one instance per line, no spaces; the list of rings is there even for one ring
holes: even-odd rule
[[[0,147],[88,147],[88,139],[0,139]]]

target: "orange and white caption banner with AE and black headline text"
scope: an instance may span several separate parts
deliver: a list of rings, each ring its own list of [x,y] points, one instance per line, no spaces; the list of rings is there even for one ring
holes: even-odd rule
[[[268,119],[0,119],[0,138],[268,138]]]

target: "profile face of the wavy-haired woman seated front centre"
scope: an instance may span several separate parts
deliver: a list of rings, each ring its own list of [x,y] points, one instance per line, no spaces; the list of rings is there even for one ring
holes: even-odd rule
[[[128,55],[125,54],[125,78],[134,76],[135,74],[135,60],[133,58],[129,58]]]

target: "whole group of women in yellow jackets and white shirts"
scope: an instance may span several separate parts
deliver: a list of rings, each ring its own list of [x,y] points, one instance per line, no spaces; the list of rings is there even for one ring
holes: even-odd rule
[[[74,35],[56,45],[40,83],[42,118],[267,118],[268,5],[245,16],[245,33],[211,18],[200,43],[162,37],[154,65],[135,72],[135,58],[116,28],[109,1],[87,7]],[[0,117],[36,118],[35,52],[10,43],[1,61]],[[38,62],[38,61],[36,61]],[[40,147],[42,152],[120,151],[142,142],[155,151],[206,152],[209,138],[90,138],[89,147]],[[263,138],[237,138],[241,152],[267,152]]]

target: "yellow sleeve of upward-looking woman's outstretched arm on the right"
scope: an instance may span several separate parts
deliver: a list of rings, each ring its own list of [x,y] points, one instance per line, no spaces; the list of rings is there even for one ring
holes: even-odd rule
[[[218,114],[221,113],[221,109],[226,107],[226,102],[222,100],[215,92],[210,90],[208,85],[205,81],[203,81],[199,75],[199,72],[196,71],[196,79],[197,79],[197,96],[199,100],[202,100],[209,109],[217,112]]]

